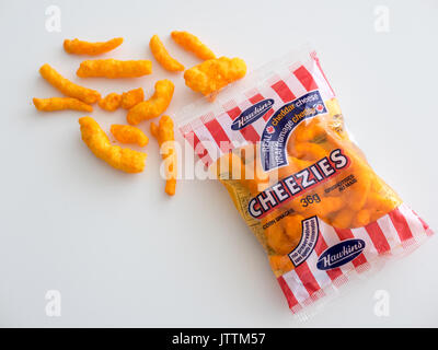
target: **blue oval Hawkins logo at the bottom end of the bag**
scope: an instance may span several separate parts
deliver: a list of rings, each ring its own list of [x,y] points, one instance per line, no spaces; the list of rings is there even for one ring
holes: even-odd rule
[[[346,240],[325,249],[318,258],[316,267],[320,270],[330,270],[343,266],[357,258],[365,249],[362,240]]]

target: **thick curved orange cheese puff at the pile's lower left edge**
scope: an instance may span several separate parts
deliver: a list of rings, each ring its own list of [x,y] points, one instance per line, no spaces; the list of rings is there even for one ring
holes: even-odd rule
[[[95,156],[126,173],[141,173],[143,171],[146,153],[112,145],[106,133],[91,117],[79,118],[79,124],[83,142]]]

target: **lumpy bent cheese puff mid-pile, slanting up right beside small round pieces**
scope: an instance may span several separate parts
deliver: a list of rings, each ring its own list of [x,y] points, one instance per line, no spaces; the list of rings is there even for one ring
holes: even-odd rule
[[[126,120],[131,125],[137,125],[142,120],[157,118],[168,109],[174,89],[175,85],[170,80],[159,80],[155,83],[155,92],[152,97],[130,108]]]

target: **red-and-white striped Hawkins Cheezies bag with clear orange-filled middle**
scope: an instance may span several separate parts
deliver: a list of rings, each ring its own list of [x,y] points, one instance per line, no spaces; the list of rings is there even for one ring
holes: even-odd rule
[[[308,315],[433,234],[351,142],[313,50],[266,65],[178,120],[263,245],[292,313]]]

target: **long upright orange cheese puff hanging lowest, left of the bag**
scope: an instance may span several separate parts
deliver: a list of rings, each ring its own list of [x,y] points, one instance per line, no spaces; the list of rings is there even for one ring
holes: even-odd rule
[[[176,187],[176,151],[173,120],[169,116],[162,116],[158,126],[151,122],[150,129],[163,151],[162,158],[168,165],[165,167],[165,192],[169,196],[173,196]],[[163,150],[163,148],[165,149]]]

